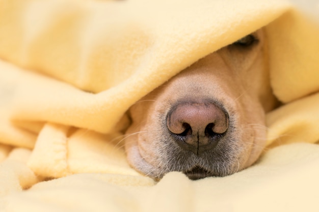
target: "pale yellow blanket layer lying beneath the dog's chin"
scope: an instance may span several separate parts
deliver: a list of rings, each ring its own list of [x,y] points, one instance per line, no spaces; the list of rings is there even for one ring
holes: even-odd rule
[[[227,177],[191,181],[172,172],[155,186],[142,176],[82,173],[6,197],[7,211],[315,211],[316,144],[290,144]],[[297,181],[296,181],[297,180]],[[139,185],[139,186],[136,186]],[[19,204],[17,204],[19,202]]]

